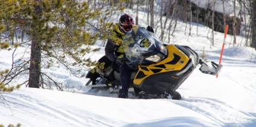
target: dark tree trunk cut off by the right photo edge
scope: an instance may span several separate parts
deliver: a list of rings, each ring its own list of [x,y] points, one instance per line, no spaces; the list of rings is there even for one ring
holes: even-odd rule
[[[256,1],[251,3],[251,36],[252,43],[251,47],[256,49]]]

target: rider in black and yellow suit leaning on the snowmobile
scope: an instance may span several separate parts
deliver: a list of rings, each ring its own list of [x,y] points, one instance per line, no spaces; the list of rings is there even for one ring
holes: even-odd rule
[[[127,58],[125,57],[124,49],[121,44],[123,43],[124,35],[133,28],[133,24],[132,16],[123,14],[119,19],[119,23],[112,29],[105,47],[106,57],[120,66],[121,86],[119,88],[118,98],[128,97],[132,69],[125,63]]]

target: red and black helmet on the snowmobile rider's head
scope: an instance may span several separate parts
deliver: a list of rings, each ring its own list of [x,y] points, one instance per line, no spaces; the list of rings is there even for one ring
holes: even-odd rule
[[[127,31],[132,29],[133,24],[132,16],[129,14],[123,14],[119,19],[119,28],[123,33],[127,33]]]

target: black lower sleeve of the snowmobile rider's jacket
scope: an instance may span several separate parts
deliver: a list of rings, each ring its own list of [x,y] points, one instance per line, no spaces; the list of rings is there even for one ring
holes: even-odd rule
[[[112,43],[112,40],[107,40],[107,44],[105,46],[105,55],[107,58],[109,58],[109,60],[111,61],[115,61],[115,59],[117,58],[115,56],[115,47],[114,44]]]

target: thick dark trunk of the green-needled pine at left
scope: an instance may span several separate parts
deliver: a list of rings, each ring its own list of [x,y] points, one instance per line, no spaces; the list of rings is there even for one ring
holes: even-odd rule
[[[35,0],[39,1],[39,0]],[[34,5],[36,11],[36,16],[42,13],[42,8],[40,5]],[[40,18],[39,18],[40,19]],[[33,21],[34,34],[31,42],[31,55],[30,55],[30,76],[28,79],[28,87],[39,88],[40,84],[40,63],[41,63],[41,48],[40,40],[37,39],[37,31],[39,26],[37,26],[37,20]]]

